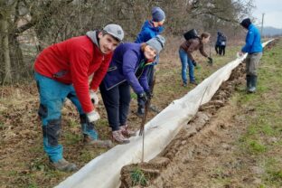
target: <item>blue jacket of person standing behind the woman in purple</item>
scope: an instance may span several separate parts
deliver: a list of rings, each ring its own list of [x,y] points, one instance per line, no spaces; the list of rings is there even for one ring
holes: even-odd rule
[[[136,38],[136,43],[142,43],[147,42],[150,39],[154,38],[156,35],[162,33],[164,31],[163,26],[154,27],[154,24],[152,21],[146,21],[141,29],[141,32],[138,33],[138,36]]]

